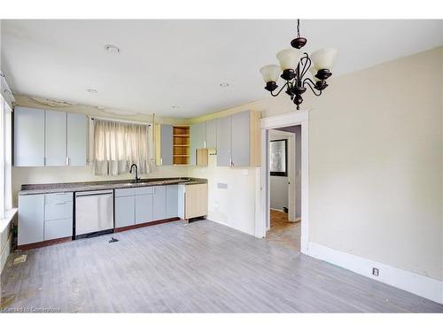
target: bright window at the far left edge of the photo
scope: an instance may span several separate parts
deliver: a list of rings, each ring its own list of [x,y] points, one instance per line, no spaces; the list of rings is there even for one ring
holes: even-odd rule
[[[12,209],[12,110],[0,95],[0,219]]]

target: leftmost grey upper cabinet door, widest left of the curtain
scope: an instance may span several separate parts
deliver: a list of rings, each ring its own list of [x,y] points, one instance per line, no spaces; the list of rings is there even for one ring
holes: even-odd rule
[[[44,166],[44,111],[14,109],[14,166]]]

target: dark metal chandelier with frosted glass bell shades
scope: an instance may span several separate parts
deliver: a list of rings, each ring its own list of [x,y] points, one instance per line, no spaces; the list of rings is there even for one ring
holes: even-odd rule
[[[260,68],[260,73],[266,82],[265,89],[271,93],[271,96],[276,97],[286,89],[286,94],[297,105],[297,110],[303,103],[301,95],[305,93],[307,87],[314,92],[315,96],[322,95],[322,91],[328,86],[326,80],[332,75],[330,69],[337,55],[336,49],[316,50],[310,57],[306,52],[299,50],[307,43],[306,38],[300,37],[299,26],[300,20],[297,19],[297,37],[291,42],[292,49],[280,50],[276,55],[280,66],[268,65]],[[308,71],[312,79],[305,77]],[[278,92],[274,93],[278,88],[276,85],[278,75],[286,82]]]

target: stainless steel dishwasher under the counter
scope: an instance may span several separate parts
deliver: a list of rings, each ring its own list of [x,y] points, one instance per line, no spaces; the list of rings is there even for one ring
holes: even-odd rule
[[[75,238],[113,232],[113,190],[75,193]]]

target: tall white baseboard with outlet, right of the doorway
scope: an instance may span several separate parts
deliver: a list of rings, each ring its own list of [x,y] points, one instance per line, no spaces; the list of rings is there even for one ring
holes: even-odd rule
[[[362,257],[337,251],[318,243],[308,243],[308,255],[443,304],[443,282],[437,279],[388,266],[370,259],[363,259]],[[378,268],[378,276],[372,275],[372,267]]]

